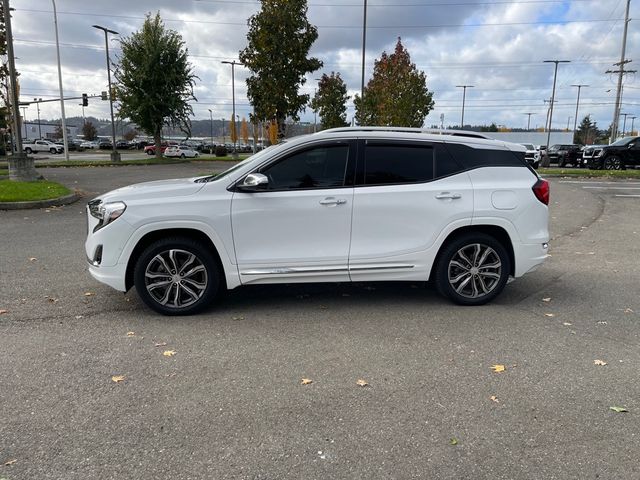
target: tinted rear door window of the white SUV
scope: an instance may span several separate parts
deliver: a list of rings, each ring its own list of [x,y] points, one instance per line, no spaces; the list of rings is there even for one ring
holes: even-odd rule
[[[431,145],[376,145],[365,150],[365,185],[418,183],[433,179]]]

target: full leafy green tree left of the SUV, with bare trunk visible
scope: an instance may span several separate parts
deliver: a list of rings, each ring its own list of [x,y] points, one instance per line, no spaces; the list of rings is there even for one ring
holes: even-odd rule
[[[188,50],[178,32],[166,29],[157,13],[147,15],[142,29],[120,41],[122,55],[115,67],[119,116],[129,118],[153,135],[156,157],[164,125],[180,128],[191,136],[197,77],[188,60]]]

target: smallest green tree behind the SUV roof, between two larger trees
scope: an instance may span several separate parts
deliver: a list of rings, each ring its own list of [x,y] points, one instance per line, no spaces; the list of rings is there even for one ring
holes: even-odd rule
[[[347,125],[347,85],[340,72],[322,75],[318,82],[318,92],[311,100],[311,108],[320,114],[323,128],[345,127]]]

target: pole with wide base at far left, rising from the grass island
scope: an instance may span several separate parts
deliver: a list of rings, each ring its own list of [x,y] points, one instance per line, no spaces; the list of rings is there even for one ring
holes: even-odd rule
[[[13,142],[9,157],[9,179],[34,181],[42,178],[36,171],[33,158],[29,158],[22,150],[22,130],[20,129],[20,98],[18,96],[18,75],[16,73],[16,57],[13,51],[13,33],[11,31],[11,6],[9,0],[2,0],[4,11],[5,35],[7,38],[7,57],[9,61],[9,80],[11,82],[11,114],[13,116]]]

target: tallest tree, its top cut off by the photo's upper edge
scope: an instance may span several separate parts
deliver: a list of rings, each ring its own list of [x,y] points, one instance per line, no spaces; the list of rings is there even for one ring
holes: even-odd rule
[[[322,67],[317,58],[307,58],[318,38],[318,30],[307,20],[306,0],[260,0],[258,13],[249,18],[248,45],[240,61],[251,71],[247,96],[259,121],[276,120],[278,137],[285,134],[285,120],[299,120],[309,103],[300,95],[307,73]]]

